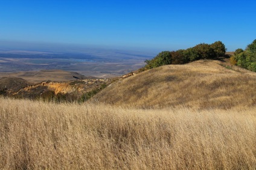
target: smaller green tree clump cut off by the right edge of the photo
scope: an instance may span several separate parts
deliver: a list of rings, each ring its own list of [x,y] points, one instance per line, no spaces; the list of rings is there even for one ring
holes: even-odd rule
[[[256,71],[256,40],[249,44],[245,50],[235,50],[231,62],[248,70]]]

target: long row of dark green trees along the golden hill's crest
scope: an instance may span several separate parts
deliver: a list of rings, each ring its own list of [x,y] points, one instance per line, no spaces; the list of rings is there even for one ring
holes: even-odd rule
[[[163,51],[155,58],[146,60],[147,63],[142,70],[159,67],[167,64],[185,64],[199,59],[218,59],[225,56],[226,48],[222,41],[216,41],[213,44],[197,44],[186,50]]]

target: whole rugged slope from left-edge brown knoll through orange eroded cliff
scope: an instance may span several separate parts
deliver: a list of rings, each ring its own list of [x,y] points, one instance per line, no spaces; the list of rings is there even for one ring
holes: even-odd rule
[[[77,79],[68,82],[47,80],[34,84],[19,77],[0,77],[0,95],[22,99],[74,102],[89,99],[110,83],[110,79]],[[86,94],[89,96],[83,99],[82,97]]]

